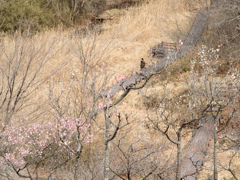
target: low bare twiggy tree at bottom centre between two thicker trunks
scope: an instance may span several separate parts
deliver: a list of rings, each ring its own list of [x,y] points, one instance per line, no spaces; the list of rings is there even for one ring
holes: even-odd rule
[[[147,179],[163,173],[171,158],[166,158],[166,141],[157,143],[157,140],[146,137],[148,133],[139,133],[135,140],[129,142],[127,139],[131,137],[131,128],[129,126],[121,131],[112,143],[114,161],[110,165],[113,173],[111,179]]]

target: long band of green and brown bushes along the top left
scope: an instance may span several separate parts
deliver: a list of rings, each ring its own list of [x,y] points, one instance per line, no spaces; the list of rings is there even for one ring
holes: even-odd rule
[[[82,2],[84,2],[82,4]],[[0,0],[0,31],[38,32],[59,24],[69,27],[104,10],[105,0]]]

